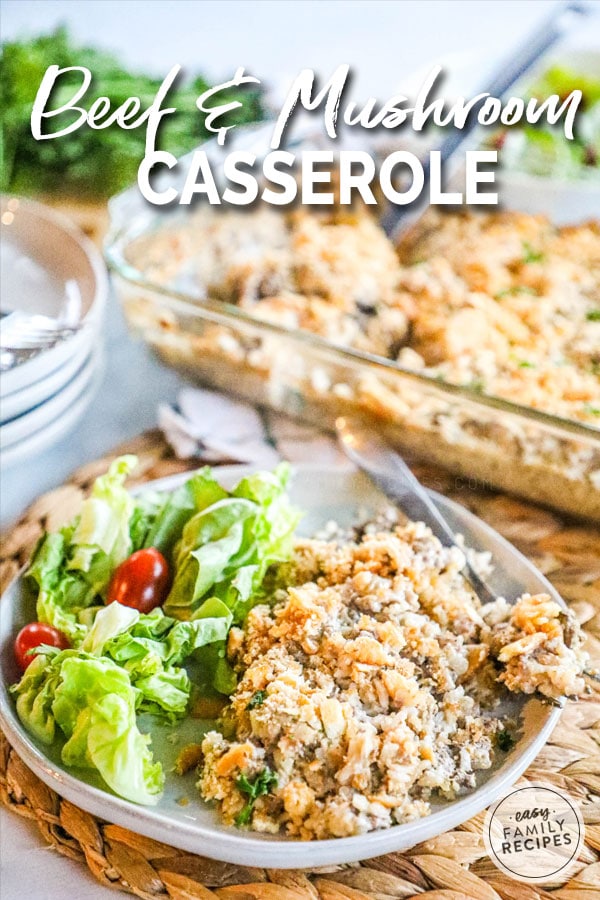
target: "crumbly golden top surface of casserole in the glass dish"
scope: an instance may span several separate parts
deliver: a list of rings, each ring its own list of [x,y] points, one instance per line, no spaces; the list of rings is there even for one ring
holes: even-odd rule
[[[360,209],[204,212],[164,240],[132,245],[160,281],[193,256],[194,292],[258,319],[600,426],[599,222],[430,210],[396,252]]]

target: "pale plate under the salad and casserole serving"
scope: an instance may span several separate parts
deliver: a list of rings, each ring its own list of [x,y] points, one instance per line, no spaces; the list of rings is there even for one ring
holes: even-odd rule
[[[225,486],[232,486],[248,471],[249,467],[232,466],[219,470],[218,475]],[[143,490],[174,488],[187,477],[184,474],[163,479],[145,485]],[[382,495],[366,478],[339,467],[298,467],[291,494],[293,501],[307,511],[302,520],[305,534],[314,532],[332,518],[349,524],[359,510],[373,510],[382,504]],[[499,593],[512,600],[523,591],[547,591],[562,604],[548,581],[507,541],[458,504],[438,495],[434,497],[453,528],[461,531],[471,546],[494,553],[498,568],[491,582]],[[194,774],[182,778],[171,772],[180,748],[189,741],[197,741],[210,723],[187,720],[176,728],[178,742],[174,744],[172,727],[157,727],[151,724],[151,719],[142,721],[142,728],[152,729],[155,757],[163,762],[167,773],[165,793],[156,807],[136,806],[114,796],[89,771],[67,769],[61,763],[58,745],[48,749],[37,743],[17,718],[7,690],[18,677],[12,652],[14,636],[33,618],[33,596],[22,579],[17,578],[0,603],[0,725],[19,756],[61,796],[96,816],[183,850],[242,865],[276,868],[332,865],[405,850],[429,840],[465,822],[501,796],[539,753],[560,716],[560,710],[537,699],[511,698],[507,712],[520,716],[521,728],[512,751],[497,768],[480,773],[478,787],[467,796],[434,804],[432,813],[416,822],[358,837],[312,842],[259,835],[223,825],[216,810],[200,799]],[[185,805],[181,803],[183,798],[188,800]]]

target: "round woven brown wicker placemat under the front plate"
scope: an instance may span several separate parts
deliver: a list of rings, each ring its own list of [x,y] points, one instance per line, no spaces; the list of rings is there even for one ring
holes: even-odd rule
[[[27,560],[44,528],[76,512],[93,479],[112,455],[137,453],[138,481],[192,467],[172,458],[159,432],[149,432],[114,454],[79,469],[70,482],[40,497],[5,537],[2,589]],[[432,487],[459,500],[511,540],[548,575],[588,634],[587,649],[600,665],[600,530],[499,494],[479,491],[447,473],[419,469]],[[600,685],[569,703],[551,740],[527,777],[568,791],[581,805],[585,844],[575,868],[544,888],[502,875],[483,844],[483,814],[406,853],[327,870],[253,869],[214,862],[100,821],[47,788],[0,735],[2,801],[30,819],[60,853],[87,863],[103,884],[147,900],[593,900],[600,896]],[[202,847],[198,847],[199,853]]]

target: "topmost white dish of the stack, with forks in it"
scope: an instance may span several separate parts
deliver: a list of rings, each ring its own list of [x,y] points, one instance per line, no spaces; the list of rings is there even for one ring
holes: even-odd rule
[[[2,373],[0,397],[23,390],[92,347],[102,325],[108,278],[96,247],[53,209],[3,196],[0,203],[2,310],[82,324],[73,337]]]

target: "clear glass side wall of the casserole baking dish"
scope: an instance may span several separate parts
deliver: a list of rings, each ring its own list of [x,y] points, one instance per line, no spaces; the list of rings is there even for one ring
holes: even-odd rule
[[[260,140],[260,129],[248,129],[241,146]],[[600,429],[442,383],[203,297],[189,277],[193,242],[175,253],[168,238],[170,229],[185,228],[190,209],[157,210],[137,188],[110,203],[106,254],[117,296],[129,326],[162,361],[325,427],[339,415],[372,417],[404,453],[600,521]],[[140,238],[145,264],[137,267],[128,251]],[[164,269],[160,280],[156,265]]]

